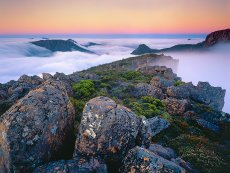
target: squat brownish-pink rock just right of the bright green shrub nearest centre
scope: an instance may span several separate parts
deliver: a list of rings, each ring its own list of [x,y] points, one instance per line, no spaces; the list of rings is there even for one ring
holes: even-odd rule
[[[163,102],[165,104],[166,111],[172,115],[182,116],[189,106],[189,102],[186,99],[179,100],[174,98],[167,98],[163,100]]]

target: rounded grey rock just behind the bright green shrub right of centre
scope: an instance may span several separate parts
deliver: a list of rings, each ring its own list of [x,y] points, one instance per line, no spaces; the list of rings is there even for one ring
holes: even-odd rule
[[[147,83],[137,84],[134,87],[132,94],[134,97],[152,96],[158,99],[164,98],[164,94],[162,93],[162,90],[160,88],[149,85]]]

